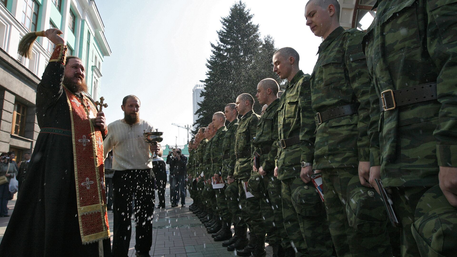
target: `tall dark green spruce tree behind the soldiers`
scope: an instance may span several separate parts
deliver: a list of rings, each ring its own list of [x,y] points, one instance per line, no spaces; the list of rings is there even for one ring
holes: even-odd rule
[[[201,93],[204,100],[198,103],[196,112],[200,116],[194,124],[197,127],[206,127],[214,112],[223,112],[225,105],[235,102],[240,94],[250,93],[255,98],[260,80],[279,79],[271,63],[276,51],[274,40],[266,36],[262,42],[259,25],[252,22],[252,17],[246,5],[239,1],[232,5],[228,16],[221,19],[218,40],[211,43],[212,54],[207,59],[207,78],[201,80],[205,90]],[[255,101],[255,112],[260,113],[260,108]]]

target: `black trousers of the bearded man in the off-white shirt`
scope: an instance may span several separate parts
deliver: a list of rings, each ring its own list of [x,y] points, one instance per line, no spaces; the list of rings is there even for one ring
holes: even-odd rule
[[[135,197],[135,250],[149,254],[152,246],[152,220],[154,213],[154,181],[150,169],[115,171],[113,176],[114,236],[113,257],[127,257],[132,237],[132,200]]]

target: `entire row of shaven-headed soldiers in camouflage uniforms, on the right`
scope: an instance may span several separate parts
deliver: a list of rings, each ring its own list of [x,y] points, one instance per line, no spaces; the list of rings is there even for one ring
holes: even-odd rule
[[[281,98],[275,80],[262,80],[261,117],[241,94],[198,130],[191,209],[229,251],[266,256],[267,238],[273,256],[456,256],[457,5],[375,8],[365,33],[340,27],[337,0],[310,0],[306,24],[324,39],[313,73],[281,48],[272,57],[288,81]]]

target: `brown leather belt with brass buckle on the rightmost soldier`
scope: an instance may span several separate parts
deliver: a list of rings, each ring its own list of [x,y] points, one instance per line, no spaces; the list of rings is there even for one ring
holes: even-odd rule
[[[436,99],[436,82],[411,86],[399,90],[386,90],[381,93],[379,106],[381,111],[390,111],[396,107]]]

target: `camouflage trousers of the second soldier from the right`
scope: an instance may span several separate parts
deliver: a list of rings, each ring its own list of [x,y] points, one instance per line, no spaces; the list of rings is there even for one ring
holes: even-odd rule
[[[354,176],[358,176],[357,167],[322,169],[324,204],[336,253],[338,257],[392,257],[386,221],[367,222],[357,230],[349,225],[346,193]]]

